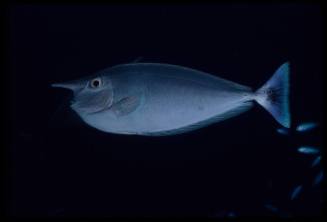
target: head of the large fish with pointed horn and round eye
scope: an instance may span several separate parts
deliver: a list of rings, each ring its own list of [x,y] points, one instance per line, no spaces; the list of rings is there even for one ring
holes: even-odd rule
[[[113,102],[113,87],[108,76],[96,75],[79,80],[54,83],[51,86],[69,89],[73,92],[70,106],[79,115],[104,111]]]

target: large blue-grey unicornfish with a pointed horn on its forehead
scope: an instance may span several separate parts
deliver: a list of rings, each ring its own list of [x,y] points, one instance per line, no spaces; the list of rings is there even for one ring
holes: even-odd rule
[[[270,80],[273,84],[283,84],[286,80],[281,78],[288,81],[288,70],[276,73],[278,79],[275,75],[272,79],[278,83]],[[278,107],[281,111],[271,105],[270,85],[268,81],[254,92],[201,71],[155,63],[118,65],[86,80],[53,84],[74,91],[72,108],[87,124],[105,132],[151,136],[183,133],[228,119],[250,109],[254,101],[289,127],[288,101]],[[281,95],[283,101],[287,94],[286,90]]]

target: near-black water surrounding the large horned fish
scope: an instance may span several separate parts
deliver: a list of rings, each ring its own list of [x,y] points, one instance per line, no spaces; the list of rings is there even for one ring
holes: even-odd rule
[[[10,215],[278,216],[266,203],[290,216],[320,215],[322,189],[312,187],[320,166],[310,168],[315,157],[296,148],[322,147],[321,127],[282,136],[256,105],[183,135],[119,136],[58,110],[70,94],[50,88],[143,57],[256,89],[289,61],[292,127],[322,124],[319,6],[25,5],[7,12]]]

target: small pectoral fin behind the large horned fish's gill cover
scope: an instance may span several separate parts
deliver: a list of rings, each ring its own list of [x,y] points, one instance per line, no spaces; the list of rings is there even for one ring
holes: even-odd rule
[[[129,96],[114,103],[111,108],[117,116],[124,116],[135,111],[140,101],[140,96]]]

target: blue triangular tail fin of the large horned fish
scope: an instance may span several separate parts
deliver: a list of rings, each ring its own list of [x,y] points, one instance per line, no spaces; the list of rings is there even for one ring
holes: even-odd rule
[[[255,92],[255,100],[286,128],[290,128],[289,63],[281,65],[274,75]]]

